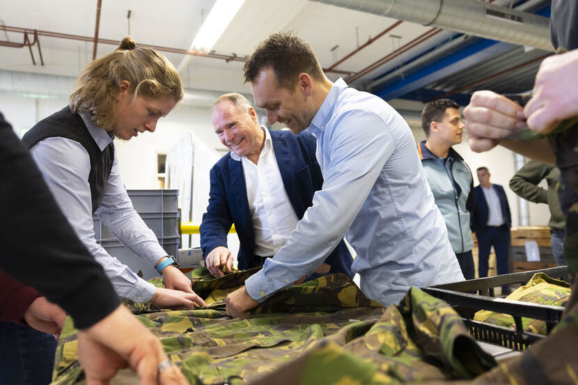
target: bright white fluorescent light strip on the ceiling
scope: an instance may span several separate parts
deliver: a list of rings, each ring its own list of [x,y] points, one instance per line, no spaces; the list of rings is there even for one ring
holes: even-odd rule
[[[245,0],[217,0],[189,49],[210,52],[244,2]],[[183,58],[178,66],[179,72],[185,68],[190,59],[189,55]]]

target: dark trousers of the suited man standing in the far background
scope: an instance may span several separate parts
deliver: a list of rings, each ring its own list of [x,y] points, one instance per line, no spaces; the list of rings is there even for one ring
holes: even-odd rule
[[[478,273],[480,278],[487,276],[487,260],[494,246],[498,274],[508,274],[508,255],[510,253],[510,229],[506,225],[487,226],[478,237]]]

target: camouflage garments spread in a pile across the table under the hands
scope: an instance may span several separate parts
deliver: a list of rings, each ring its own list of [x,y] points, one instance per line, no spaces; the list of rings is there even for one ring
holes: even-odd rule
[[[285,380],[283,370],[304,360],[302,384],[332,384],[341,375],[359,384],[467,379],[495,365],[445,302],[412,289],[398,306],[384,309],[344,274],[286,288],[249,317],[231,319],[224,297],[257,270],[221,278],[195,271],[193,290],[208,300],[204,308],[166,311],[126,304],[161,338],[190,384],[277,384]],[[151,281],[161,284],[159,278]],[[123,384],[138,384],[131,372],[121,376]],[[69,319],[56,350],[53,384],[82,382]]]

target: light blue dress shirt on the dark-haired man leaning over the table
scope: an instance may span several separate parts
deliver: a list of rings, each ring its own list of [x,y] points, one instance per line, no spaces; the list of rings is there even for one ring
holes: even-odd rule
[[[361,291],[383,306],[411,286],[464,280],[412,132],[389,104],[339,79],[308,130],[325,182],[285,246],[245,282],[253,299],[311,272],[343,235]]]

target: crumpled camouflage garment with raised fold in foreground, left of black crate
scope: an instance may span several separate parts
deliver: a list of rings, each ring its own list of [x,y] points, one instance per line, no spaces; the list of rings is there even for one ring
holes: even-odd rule
[[[255,384],[403,384],[473,378],[495,366],[444,301],[412,288],[354,340],[340,333]],[[251,383],[253,384],[253,383]]]

